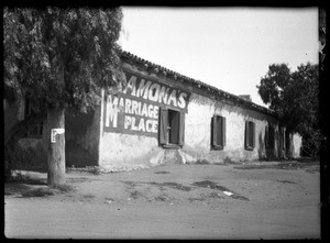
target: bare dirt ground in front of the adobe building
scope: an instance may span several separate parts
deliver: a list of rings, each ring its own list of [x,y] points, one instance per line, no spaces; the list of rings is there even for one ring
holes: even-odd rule
[[[4,187],[15,239],[319,239],[319,164],[167,165],[92,174],[22,172]]]

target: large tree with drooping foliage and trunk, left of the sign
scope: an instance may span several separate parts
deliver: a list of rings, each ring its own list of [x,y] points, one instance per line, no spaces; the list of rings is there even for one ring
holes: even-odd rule
[[[100,87],[122,82],[117,44],[121,20],[121,8],[4,9],[4,82],[15,96],[42,100],[41,115],[34,117],[46,115],[47,137],[52,129],[64,129],[66,108],[94,109],[100,101]],[[9,133],[7,151],[26,126],[29,118]],[[48,185],[64,184],[64,135],[47,147]]]

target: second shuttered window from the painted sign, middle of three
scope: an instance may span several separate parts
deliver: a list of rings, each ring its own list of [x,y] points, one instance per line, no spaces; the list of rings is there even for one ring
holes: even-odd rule
[[[223,150],[226,145],[226,118],[215,114],[211,121],[211,145],[213,150]]]

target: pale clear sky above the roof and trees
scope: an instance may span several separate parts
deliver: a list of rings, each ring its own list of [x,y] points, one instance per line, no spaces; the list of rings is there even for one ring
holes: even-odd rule
[[[123,51],[267,107],[256,86],[271,64],[318,63],[317,8],[123,7]]]

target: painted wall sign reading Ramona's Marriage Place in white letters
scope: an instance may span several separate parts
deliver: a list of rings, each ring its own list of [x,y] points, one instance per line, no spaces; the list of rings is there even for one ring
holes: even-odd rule
[[[108,95],[105,132],[157,136],[160,107],[187,112],[190,92],[125,71],[127,87]]]

